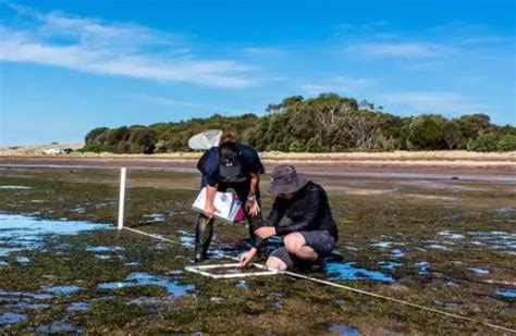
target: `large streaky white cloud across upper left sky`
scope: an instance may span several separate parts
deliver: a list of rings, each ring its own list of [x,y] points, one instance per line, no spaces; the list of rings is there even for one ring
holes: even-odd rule
[[[57,12],[45,14],[11,8],[27,25],[0,26],[1,61],[225,88],[255,84],[246,76],[254,70],[251,66],[233,60],[199,59],[181,42],[179,35],[133,24],[108,24]]]

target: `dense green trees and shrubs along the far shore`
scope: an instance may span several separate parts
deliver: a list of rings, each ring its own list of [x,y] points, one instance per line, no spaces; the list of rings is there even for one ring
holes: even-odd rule
[[[177,123],[98,127],[86,137],[83,151],[153,153],[189,151],[188,139],[206,129],[233,130],[238,140],[260,151],[342,152],[469,149],[515,150],[516,128],[496,126],[486,114],[446,120],[425,114],[401,117],[367,100],[322,94],[305,99],[293,96],[269,104],[258,117],[213,114]]]

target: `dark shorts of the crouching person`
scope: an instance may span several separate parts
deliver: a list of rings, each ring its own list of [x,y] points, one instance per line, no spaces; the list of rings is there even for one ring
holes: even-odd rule
[[[302,231],[299,234],[305,238],[306,245],[311,247],[319,258],[330,256],[335,247],[335,238],[328,233],[328,231]],[[306,266],[310,261],[302,260],[294,254],[288,253],[286,248],[280,247],[270,253],[270,257],[281,259],[287,269],[293,266]]]

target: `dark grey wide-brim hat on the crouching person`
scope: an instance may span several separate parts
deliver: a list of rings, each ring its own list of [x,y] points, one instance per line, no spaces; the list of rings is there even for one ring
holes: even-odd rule
[[[272,181],[267,185],[269,194],[291,194],[300,190],[309,182],[305,174],[297,173],[291,164],[282,164],[272,171]]]

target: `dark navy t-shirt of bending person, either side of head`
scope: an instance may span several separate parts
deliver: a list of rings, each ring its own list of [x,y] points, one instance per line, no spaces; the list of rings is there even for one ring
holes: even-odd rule
[[[238,149],[238,155],[242,162],[242,173],[238,177],[249,178],[250,173],[255,175],[261,175],[266,172],[261,164],[258,152],[249,146],[236,144]],[[207,184],[214,186],[221,182],[219,175],[219,147],[212,147],[207,150],[199,162],[197,162],[197,169],[202,173],[201,187]]]

